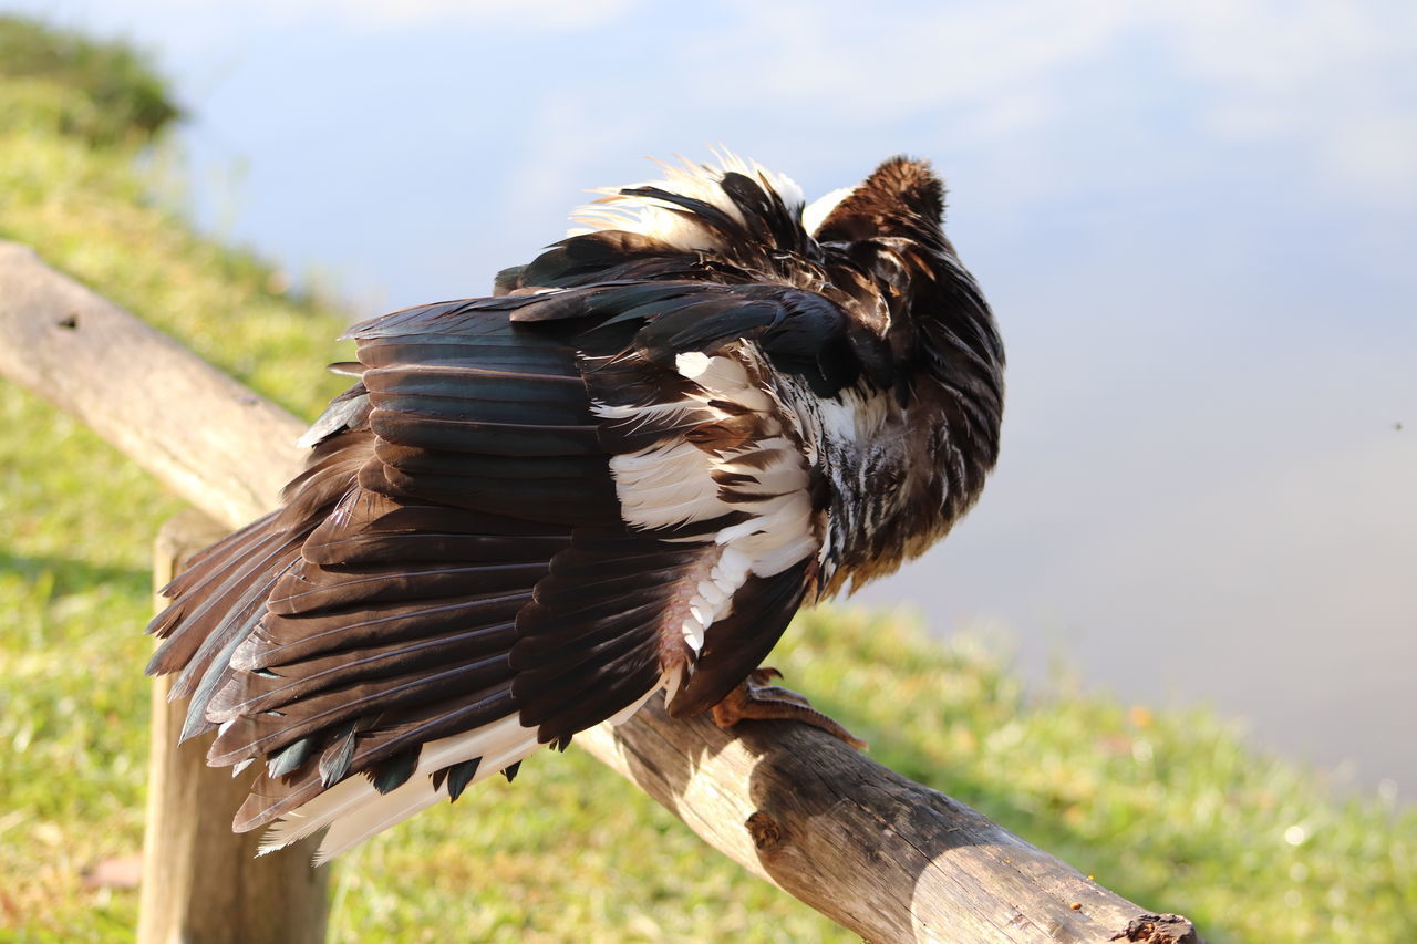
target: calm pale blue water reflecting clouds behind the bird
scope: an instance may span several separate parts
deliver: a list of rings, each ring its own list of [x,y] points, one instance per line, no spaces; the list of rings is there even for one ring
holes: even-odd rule
[[[490,291],[642,159],[894,153],[1009,350],[1003,456],[859,598],[1417,795],[1417,4],[0,0],[150,50],[208,231],[351,315]]]

